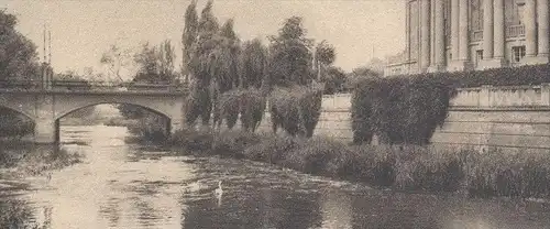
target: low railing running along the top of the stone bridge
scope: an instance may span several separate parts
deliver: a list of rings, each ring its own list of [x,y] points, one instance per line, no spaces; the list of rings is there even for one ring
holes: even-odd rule
[[[99,81],[99,80],[53,80],[44,83],[36,79],[0,80],[0,90],[30,91],[185,91],[187,84],[143,84],[132,81]]]

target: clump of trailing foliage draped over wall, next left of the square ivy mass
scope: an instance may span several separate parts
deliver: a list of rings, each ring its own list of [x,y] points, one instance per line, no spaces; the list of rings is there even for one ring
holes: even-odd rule
[[[276,87],[270,95],[273,132],[283,128],[290,135],[310,138],[321,113],[323,86]]]

